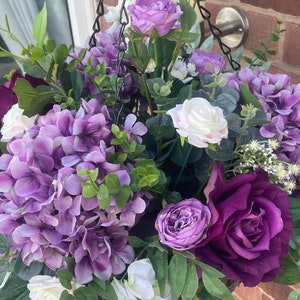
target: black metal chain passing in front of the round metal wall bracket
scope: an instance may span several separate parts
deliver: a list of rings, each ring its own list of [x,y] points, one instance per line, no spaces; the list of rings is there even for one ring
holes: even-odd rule
[[[236,60],[233,59],[233,57],[231,55],[231,49],[226,44],[224,44],[222,42],[222,39],[221,39],[222,32],[221,32],[221,30],[211,23],[211,13],[210,13],[210,11],[207,10],[204,6],[202,6],[200,4],[200,1],[197,1],[197,6],[198,6],[198,9],[200,11],[200,14],[201,14],[203,20],[207,21],[209,29],[210,29],[212,35],[214,36],[214,38],[217,40],[221,51],[227,57],[230,66],[232,67],[232,69],[234,71],[239,70],[241,68],[241,65]]]

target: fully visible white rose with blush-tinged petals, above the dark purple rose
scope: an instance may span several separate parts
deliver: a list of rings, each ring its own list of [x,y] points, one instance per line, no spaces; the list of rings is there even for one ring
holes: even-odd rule
[[[198,148],[219,144],[227,138],[228,126],[220,107],[212,106],[204,98],[185,100],[183,104],[167,111],[173,119],[178,134]]]

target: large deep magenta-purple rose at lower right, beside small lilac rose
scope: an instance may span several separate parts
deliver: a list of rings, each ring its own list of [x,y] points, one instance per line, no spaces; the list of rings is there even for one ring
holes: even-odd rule
[[[246,286],[273,280],[292,231],[287,194],[262,169],[226,182],[220,163],[214,165],[204,192],[212,226],[195,255]]]

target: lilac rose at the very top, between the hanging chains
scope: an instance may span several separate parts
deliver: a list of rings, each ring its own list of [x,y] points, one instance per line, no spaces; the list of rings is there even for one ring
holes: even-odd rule
[[[128,5],[131,12],[131,26],[138,33],[151,35],[156,29],[164,36],[175,27],[182,11],[172,0],[137,0]]]

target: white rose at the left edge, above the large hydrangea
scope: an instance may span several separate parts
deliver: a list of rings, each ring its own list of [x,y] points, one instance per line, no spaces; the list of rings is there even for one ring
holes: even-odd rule
[[[15,104],[3,117],[1,141],[8,142],[13,137],[22,137],[24,132],[34,126],[36,116],[31,118],[23,115],[24,110]]]

